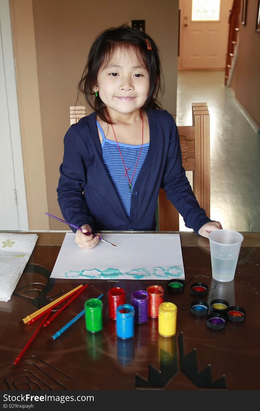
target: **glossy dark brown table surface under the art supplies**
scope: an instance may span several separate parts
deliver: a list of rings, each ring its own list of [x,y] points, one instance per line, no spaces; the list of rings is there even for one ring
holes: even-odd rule
[[[49,278],[65,232],[37,234],[37,244],[11,300],[0,302],[1,390],[259,389],[260,233],[242,233],[244,241],[232,282],[212,279],[209,241],[195,233],[180,233],[185,271],[182,293],[169,293],[168,280],[86,280],[87,289],[37,335],[14,366],[12,362],[39,324],[38,320],[24,326],[19,321],[84,284],[84,280]],[[207,296],[200,300],[223,298],[230,305],[239,305],[246,310],[245,321],[227,321],[223,330],[209,329],[207,316],[198,318],[190,312],[190,303],[196,300],[190,293],[193,282],[208,286]],[[133,338],[117,338],[115,321],[108,317],[108,290],[122,286],[130,303],[133,291],[152,284],[162,285],[164,300],[177,305],[176,335],[159,336],[158,320],[149,319],[135,325]],[[84,308],[85,300],[101,293],[101,332],[87,332],[83,316],[58,339],[51,339]]]

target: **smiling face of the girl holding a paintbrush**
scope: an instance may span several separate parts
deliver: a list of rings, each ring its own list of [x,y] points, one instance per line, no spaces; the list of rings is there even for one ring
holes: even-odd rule
[[[133,50],[117,48],[106,67],[99,70],[97,90],[111,115],[130,114],[145,104],[150,88],[149,74]],[[113,111],[115,111],[113,113]]]

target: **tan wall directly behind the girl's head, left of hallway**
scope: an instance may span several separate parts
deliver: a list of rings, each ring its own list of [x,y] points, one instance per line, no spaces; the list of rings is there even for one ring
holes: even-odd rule
[[[77,83],[81,79],[94,37],[106,28],[129,23],[130,20],[145,19],[146,32],[154,38],[161,51],[166,85],[162,103],[165,109],[175,114],[178,0],[161,0],[159,9],[158,3],[150,0],[114,0],[113,4],[106,0],[10,0],[10,5],[15,58],[17,55],[23,56],[17,67],[18,90],[30,90],[32,93],[30,98],[27,94],[24,99],[24,93],[18,91],[23,156],[28,164],[28,173],[25,175],[27,195],[31,198],[38,174],[45,173],[46,189],[42,185],[42,197],[39,198],[44,202],[47,197],[48,212],[61,217],[56,188],[63,155],[63,138],[69,128],[69,106],[76,102]],[[28,31],[28,35],[25,33],[19,40],[18,35],[23,31]],[[33,83],[31,77],[34,79]],[[77,104],[85,105],[83,97]],[[37,119],[34,120],[36,129],[28,121],[32,106]],[[42,141],[43,151],[40,147],[35,147],[32,139],[28,139],[27,132],[22,127],[24,123],[28,134],[33,136],[36,133],[37,141]],[[33,156],[39,156],[41,160],[40,171],[34,169]],[[29,175],[29,171],[32,175]],[[35,203],[33,196],[31,202]],[[32,210],[28,212],[30,218]],[[37,212],[36,208],[35,216]],[[39,210],[38,217],[38,221],[44,224],[42,210]],[[30,219],[30,229],[43,229],[35,220],[31,221]],[[50,219],[49,224],[52,230],[65,228],[53,219]]]

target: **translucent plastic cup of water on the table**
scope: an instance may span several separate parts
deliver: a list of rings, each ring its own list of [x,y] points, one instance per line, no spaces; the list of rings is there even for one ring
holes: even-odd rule
[[[217,281],[232,281],[244,237],[237,231],[215,230],[209,233],[212,277]]]

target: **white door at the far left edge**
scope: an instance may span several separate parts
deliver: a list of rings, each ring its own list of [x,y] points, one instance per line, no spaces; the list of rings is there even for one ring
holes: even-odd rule
[[[28,230],[9,0],[0,1],[0,230]]]

